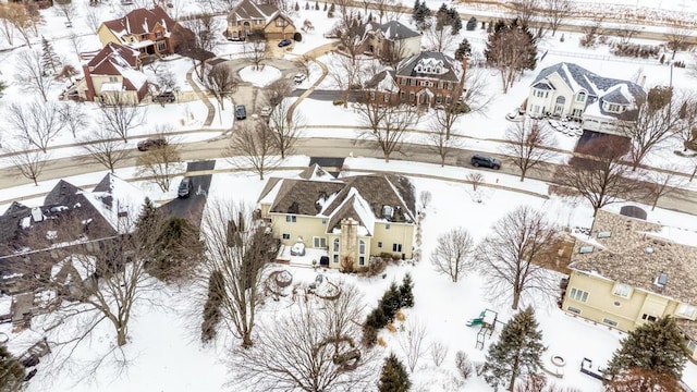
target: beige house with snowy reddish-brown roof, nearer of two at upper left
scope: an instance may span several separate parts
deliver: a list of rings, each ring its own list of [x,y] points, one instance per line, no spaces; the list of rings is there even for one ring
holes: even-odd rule
[[[140,72],[140,52],[108,42],[93,59],[83,64],[85,77],[75,87],[83,100],[102,101],[109,95],[139,102],[148,93],[147,76]]]

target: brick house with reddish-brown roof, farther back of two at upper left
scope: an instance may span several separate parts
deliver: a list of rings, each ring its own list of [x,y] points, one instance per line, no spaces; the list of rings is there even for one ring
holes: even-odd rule
[[[160,7],[151,10],[137,9],[125,16],[103,22],[97,28],[102,47],[109,42],[126,46],[140,52],[142,57],[172,54],[179,49],[181,30]]]

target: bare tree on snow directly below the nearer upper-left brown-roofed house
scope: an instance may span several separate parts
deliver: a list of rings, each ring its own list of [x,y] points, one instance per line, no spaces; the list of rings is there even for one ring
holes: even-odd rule
[[[146,109],[123,93],[109,94],[99,107],[101,124],[114,136],[129,143],[129,132],[145,122]]]

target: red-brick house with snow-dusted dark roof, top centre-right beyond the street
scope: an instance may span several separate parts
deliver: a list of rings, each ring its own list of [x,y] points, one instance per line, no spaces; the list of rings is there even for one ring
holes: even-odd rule
[[[375,75],[365,86],[365,98],[426,107],[450,105],[462,96],[466,65],[466,60],[460,63],[441,52],[424,51],[403,60],[396,71]]]

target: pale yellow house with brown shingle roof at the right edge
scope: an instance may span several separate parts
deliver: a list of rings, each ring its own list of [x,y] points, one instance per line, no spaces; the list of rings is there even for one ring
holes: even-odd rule
[[[574,248],[562,309],[622,331],[672,316],[697,359],[697,248],[667,240],[675,231],[599,210]]]

